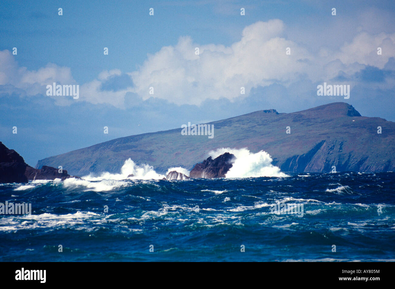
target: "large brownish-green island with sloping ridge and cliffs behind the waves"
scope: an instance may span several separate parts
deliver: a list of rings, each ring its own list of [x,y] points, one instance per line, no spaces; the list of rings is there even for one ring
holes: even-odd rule
[[[214,138],[181,135],[180,128],[132,135],[40,160],[59,163],[75,175],[117,173],[128,158],[149,163],[158,173],[169,167],[192,169],[216,148],[264,150],[284,172],[394,171],[395,123],[361,116],[348,103],[336,102],[295,113],[273,109],[211,122]],[[290,133],[286,133],[287,127]],[[378,126],[382,133],[377,133]]]

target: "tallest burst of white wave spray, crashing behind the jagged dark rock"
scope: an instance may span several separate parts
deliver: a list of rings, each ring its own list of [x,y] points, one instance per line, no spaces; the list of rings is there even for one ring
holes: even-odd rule
[[[226,173],[226,178],[258,178],[260,176],[286,177],[279,167],[271,164],[273,161],[270,155],[261,150],[256,154],[250,152],[247,148],[219,148],[212,150],[209,155],[216,158],[225,152],[234,154],[235,162],[231,169]]]

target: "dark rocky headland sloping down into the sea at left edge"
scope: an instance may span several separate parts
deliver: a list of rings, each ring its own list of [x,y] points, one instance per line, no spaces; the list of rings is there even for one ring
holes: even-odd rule
[[[41,169],[30,167],[23,158],[0,142],[0,183],[27,183],[29,180],[55,180],[60,178],[79,178],[68,175],[66,170],[62,173],[54,167],[43,165]]]

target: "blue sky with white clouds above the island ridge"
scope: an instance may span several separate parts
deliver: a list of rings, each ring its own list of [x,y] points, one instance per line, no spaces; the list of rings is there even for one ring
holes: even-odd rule
[[[35,166],[261,109],[344,101],[395,121],[394,15],[393,0],[3,0],[0,141]],[[324,82],[350,85],[350,98],[318,96]],[[79,98],[48,96],[53,83]]]

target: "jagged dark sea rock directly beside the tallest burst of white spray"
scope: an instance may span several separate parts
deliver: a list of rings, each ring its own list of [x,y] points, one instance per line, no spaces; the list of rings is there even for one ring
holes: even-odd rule
[[[214,160],[210,156],[202,163],[196,164],[189,176],[191,178],[225,178],[235,159],[235,155],[229,154],[229,152],[216,157]]]

